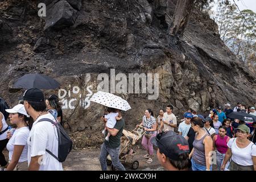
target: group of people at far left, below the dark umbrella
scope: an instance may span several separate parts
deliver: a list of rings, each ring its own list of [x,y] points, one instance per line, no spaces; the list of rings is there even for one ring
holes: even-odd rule
[[[7,125],[4,112],[9,113]],[[0,165],[2,171],[13,170],[63,170],[58,156],[57,129],[51,121],[63,125],[61,102],[56,95],[46,100],[41,90],[32,88],[24,92],[22,100],[11,109],[0,112]],[[6,161],[3,149],[9,151]]]

